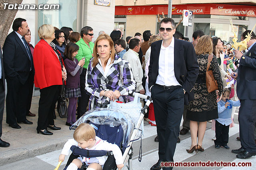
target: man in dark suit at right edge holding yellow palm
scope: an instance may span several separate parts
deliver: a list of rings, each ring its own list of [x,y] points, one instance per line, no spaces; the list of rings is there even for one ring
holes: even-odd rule
[[[250,30],[242,34],[242,40]],[[244,55],[234,50],[235,57],[240,60],[237,77],[237,96],[241,106],[238,113],[241,148],[232,150],[240,159],[250,158],[256,155],[256,144],[254,141],[254,130],[256,123],[256,35],[252,32],[250,41],[247,43],[248,52]]]

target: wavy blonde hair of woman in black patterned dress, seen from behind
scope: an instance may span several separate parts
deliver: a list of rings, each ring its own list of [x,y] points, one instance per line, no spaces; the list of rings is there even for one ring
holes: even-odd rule
[[[200,54],[212,54],[213,47],[212,47],[212,38],[210,35],[203,35],[198,40],[198,43],[195,47],[196,55]]]

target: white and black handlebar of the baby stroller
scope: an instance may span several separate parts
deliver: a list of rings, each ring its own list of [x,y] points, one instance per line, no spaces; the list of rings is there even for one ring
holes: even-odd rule
[[[140,94],[140,93],[136,93],[136,92],[132,92],[132,91],[126,92],[126,93],[124,93],[121,96],[135,96],[135,94],[138,94],[139,98],[148,100],[146,102],[146,104],[144,105],[144,107],[142,108],[142,110],[141,110],[141,112],[145,115],[147,113],[148,106],[152,102],[152,98],[150,96],[147,96],[147,95],[144,95],[144,94]],[[106,101],[104,102],[104,104],[102,104],[102,107],[106,108],[108,106],[108,102],[109,101],[110,101],[110,98],[106,98]]]

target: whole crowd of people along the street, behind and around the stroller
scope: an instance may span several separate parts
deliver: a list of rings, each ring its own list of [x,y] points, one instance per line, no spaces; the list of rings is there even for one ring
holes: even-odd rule
[[[159,160],[152,170],[160,170],[161,162],[174,162],[178,136],[189,130],[191,146],[186,151],[203,152],[207,121],[212,122],[216,132],[215,148],[230,149],[228,131],[240,105],[241,148],[232,152],[237,158],[256,155],[256,92],[250,90],[256,86],[254,32],[247,43],[248,51],[241,52],[200,30],[193,33],[189,42],[176,31],[171,18],[160,21],[158,35],[146,30],[134,38],[127,36],[126,41],[120,29],[114,29],[110,35],[100,31],[93,43],[92,27],[85,26],[78,33],[69,27],[58,29],[44,24],[38,29],[40,41],[33,47],[25,19],[16,18],[12,29],[0,58],[0,137],[6,79],[6,123],[15,129],[21,128],[18,123],[33,124],[26,116],[36,116],[30,112],[34,85],[40,88],[36,130],[43,135],[53,134],[48,128],[61,129],[54,124],[54,109],[62,85],[69,100],[68,126],[87,111],[88,104],[90,110],[102,107],[107,97],[128,102],[121,95],[132,90],[153,99],[144,116],[145,121],[157,127],[154,141],[159,142]],[[248,33],[250,30],[241,39]],[[218,90],[208,91],[208,70],[212,71]],[[0,147],[8,146],[0,140]]]

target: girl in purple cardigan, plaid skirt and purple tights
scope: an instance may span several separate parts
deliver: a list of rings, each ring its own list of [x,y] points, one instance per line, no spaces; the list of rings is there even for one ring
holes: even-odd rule
[[[84,59],[78,60],[75,58],[78,53],[78,45],[75,43],[68,43],[65,49],[64,60],[66,70],[67,70],[67,80],[65,88],[65,97],[69,98],[68,104],[68,118],[66,125],[71,126],[76,122],[76,102],[77,98],[81,97],[80,91],[80,74],[84,66]]]

